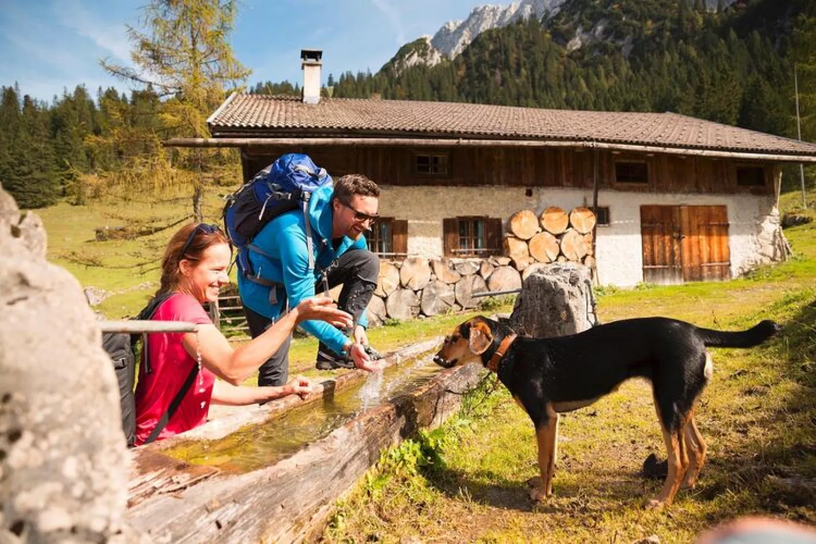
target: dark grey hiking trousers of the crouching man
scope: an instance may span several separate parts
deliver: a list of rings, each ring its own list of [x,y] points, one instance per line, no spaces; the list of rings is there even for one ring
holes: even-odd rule
[[[377,286],[378,274],[379,259],[369,250],[348,250],[340,255],[334,266],[330,268],[327,278],[329,288],[343,285],[337,305],[353,316],[355,325],[360,322],[363,312],[366,312],[371,295],[374,294]],[[325,290],[325,285],[319,281],[315,285],[315,292],[322,293],[323,290]],[[253,312],[246,306],[244,313],[252,338],[259,336],[273,324],[272,320]],[[344,330],[343,332],[348,334],[351,331]],[[286,338],[286,342],[280,349],[258,369],[259,386],[280,386],[288,381],[291,339],[291,336]],[[317,349],[331,352],[330,348],[322,342]]]

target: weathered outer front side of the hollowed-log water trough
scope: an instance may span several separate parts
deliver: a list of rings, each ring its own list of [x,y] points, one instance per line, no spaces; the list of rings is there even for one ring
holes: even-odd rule
[[[477,382],[477,365],[445,370],[395,404],[370,410],[273,467],[221,475],[128,511],[155,542],[295,542],[315,535],[335,500],[380,452],[420,427],[437,427]]]

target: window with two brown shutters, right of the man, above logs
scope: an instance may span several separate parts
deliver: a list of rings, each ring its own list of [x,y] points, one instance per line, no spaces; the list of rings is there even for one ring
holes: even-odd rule
[[[501,219],[478,216],[444,219],[442,230],[447,257],[501,254]]]

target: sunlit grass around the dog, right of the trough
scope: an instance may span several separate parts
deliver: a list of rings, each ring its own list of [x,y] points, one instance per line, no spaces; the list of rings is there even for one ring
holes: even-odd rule
[[[638,474],[665,457],[650,387],[624,384],[561,420],[554,497],[527,498],[538,473],[529,418],[499,387],[446,425],[384,452],[338,502],[328,542],[690,542],[740,515],[816,524],[816,228],[787,230],[796,257],[725,283],[601,290],[601,321],[674,316],[783,331],[752,350],[715,350],[697,410],[707,465],[666,511],[645,511],[661,482]],[[477,400],[477,397],[479,400]],[[481,404],[479,404],[481,402]]]

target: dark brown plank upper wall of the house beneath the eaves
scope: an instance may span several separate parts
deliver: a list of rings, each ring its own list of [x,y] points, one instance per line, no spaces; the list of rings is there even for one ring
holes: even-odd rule
[[[594,186],[597,153],[598,188],[602,190],[774,194],[774,165],[769,162],[573,148],[250,147],[242,151],[244,178],[250,179],[284,153],[308,153],[335,178],[363,174],[382,185],[583,189]],[[417,157],[429,153],[450,157],[446,175],[416,172]],[[648,182],[618,181],[616,168],[621,163],[645,164]],[[738,184],[738,172],[746,169],[759,172],[762,184]]]

